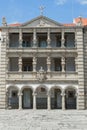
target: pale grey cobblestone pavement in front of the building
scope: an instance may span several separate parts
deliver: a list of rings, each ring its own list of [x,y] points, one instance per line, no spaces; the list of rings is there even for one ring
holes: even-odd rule
[[[87,130],[87,110],[0,110],[0,130]]]

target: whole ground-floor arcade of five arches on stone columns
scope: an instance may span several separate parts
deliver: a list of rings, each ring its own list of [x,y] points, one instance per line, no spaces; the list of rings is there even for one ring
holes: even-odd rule
[[[74,86],[9,86],[8,109],[77,109],[77,88]]]

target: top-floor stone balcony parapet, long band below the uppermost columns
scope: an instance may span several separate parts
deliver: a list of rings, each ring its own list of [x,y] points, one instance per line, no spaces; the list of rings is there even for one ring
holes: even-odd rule
[[[75,47],[9,47],[7,53],[77,53]]]

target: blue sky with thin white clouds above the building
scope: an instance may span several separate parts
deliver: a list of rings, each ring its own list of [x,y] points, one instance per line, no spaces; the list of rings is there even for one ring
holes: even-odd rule
[[[25,23],[43,15],[60,23],[72,23],[73,18],[87,18],[87,0],[0,0],[0,25],[2,17],[10,23]]]

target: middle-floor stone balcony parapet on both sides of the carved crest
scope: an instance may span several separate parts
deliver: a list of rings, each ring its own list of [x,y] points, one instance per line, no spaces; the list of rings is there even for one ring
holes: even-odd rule
[[[39,72],[7,72],[6,80],[10,81],[38,81],[37,74]],[[47,81],[77,81],[78,73],[77,72],[46,72]]]

